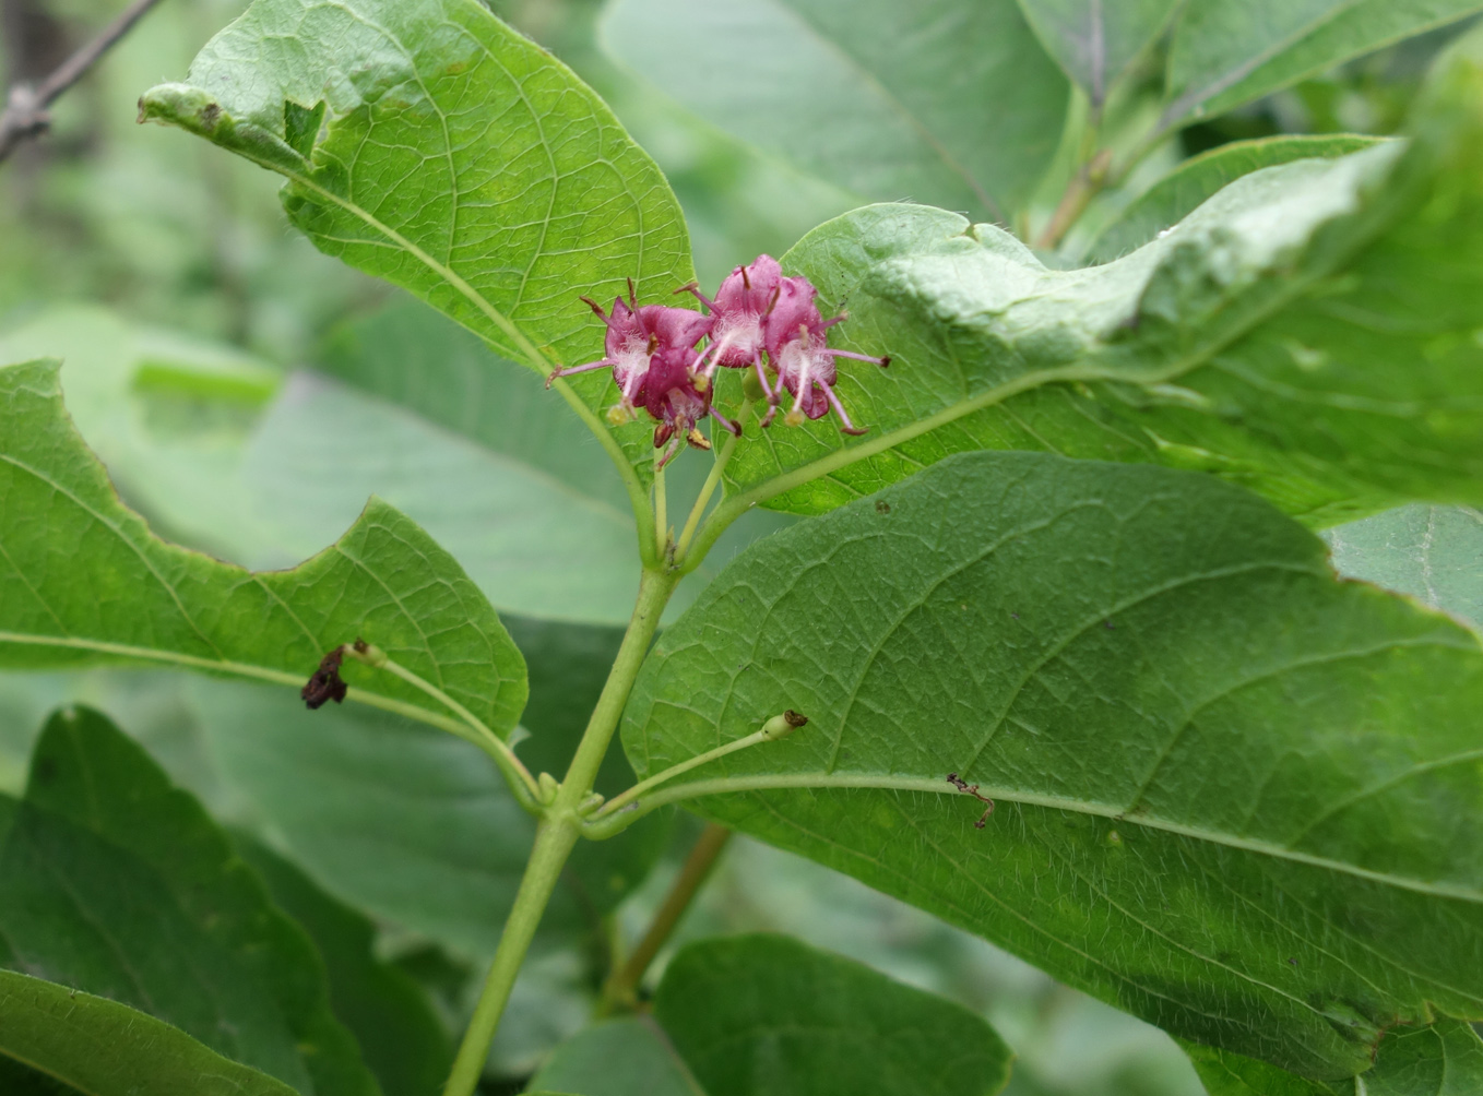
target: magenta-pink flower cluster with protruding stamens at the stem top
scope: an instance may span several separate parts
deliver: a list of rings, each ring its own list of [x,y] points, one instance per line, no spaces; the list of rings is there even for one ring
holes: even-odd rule
[[[550,380],[611,368],[618,402],[608,411],[608,421],[621,426],[633,421],[639,408],[648,411],[655,421],[654,448],[670,445],[661,464],[684,442],[698,449],[710,448],[697,426],[706,415],[742,435],[740,423],[712,406],[716,371],[722,368],[752,371],[767,399],[764,427],[771,426],[787,393],[792,406],[783,421],[789,426],[823,418],[832,409],[844,433],[865,433],[850,421],[835,395],[835,359],[853,357],[879,366],[890,365],[891,359],[829,349],[828,331],[845,314],[826,320],[816,304],[819,291],[807,277],[787,277],[777,260],[758,255],[755,263],[727,274],[715,300],[694,283],[676,292],[694,294],[709,314],[663,304],[639,306],[632,279],[629,300],[614,300],[611,316],[583,297],[608,326],[605,353],[596,362],[556,369]]]

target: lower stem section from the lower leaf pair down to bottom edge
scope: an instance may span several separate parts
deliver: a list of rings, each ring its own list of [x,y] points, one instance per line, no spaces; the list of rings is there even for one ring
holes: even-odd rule
[[[479,1077],[489,1056],[489,1041],[500,1026],[500,1016],[504,1014],[510,989],[515,986],[516,974],[521,973],[521,964],[535,936],[535,927],[541,922],[541,914],[546,912],[546,903],[550,902],[567,857],[577,844],[577,833],[572,819],[547,820],[537,828],[535,845],[525,865],[521,890],[500,934],[500,946],[494,952],[494,963],[489,964],[489,973],[483,980],[483,992],[458,1047],[458,1057],[454,1059],[443,1096],[473,1096],[479,1087]]]

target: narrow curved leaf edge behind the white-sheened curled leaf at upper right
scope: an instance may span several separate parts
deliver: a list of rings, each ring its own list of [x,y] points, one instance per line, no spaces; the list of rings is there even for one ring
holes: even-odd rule
[[[1232,141],[1194,156],[1134,199],[1087,248],[1087,263],[1111,263],[1158,237],[1243,175],[1293,160],[1357,153],[1382,138],[1352,133]]]

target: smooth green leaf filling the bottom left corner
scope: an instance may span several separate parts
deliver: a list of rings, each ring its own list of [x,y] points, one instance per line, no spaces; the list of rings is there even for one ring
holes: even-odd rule
[[[9,970],[0,970],[0,1053],[86,1096],[294,1096],[147,1013]]]

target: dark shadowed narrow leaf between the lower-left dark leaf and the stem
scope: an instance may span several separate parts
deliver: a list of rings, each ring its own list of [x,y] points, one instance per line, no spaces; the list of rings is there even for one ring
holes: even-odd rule
[[[262,842],[237,835],[237,853],[273,902],[310,934],[325,961],[329,1004],[360,1044],[386,1096],[430,1096],[452,1066],[448,1032],[412,977],[374,955],[375,925],[320,890]]]

